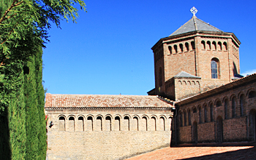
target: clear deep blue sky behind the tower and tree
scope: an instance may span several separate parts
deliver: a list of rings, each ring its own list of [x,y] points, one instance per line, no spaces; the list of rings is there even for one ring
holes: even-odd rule
[[[43,50],[48,93],[147,95],[154,88],[151,47],[196,16],[241,41],[241,74],[256,72],[256,1],[92,1],[78,23],[50,29]]]

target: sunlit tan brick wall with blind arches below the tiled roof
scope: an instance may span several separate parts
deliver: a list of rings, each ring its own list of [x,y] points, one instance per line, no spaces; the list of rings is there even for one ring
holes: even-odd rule
[[[48,127],[48,159],[126,159],[170,146],[170,111],[46,113],[48,123],[53,121]]]

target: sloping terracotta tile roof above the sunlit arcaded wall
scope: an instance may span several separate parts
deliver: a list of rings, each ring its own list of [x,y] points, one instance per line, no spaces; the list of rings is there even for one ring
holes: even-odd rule
[[[173,108],[150,95],[53,95],[46,94],[45,108]]]

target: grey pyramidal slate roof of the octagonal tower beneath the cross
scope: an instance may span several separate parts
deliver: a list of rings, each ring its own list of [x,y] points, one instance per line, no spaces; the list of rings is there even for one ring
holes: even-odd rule
[[[209,25],[203,20],[198,19],[195,15],[187,21],[184,25],[178,28],[175,32],[173,32],[170,36],[187,33],[191,31],[215,31],[215,32],[223,32],[220,29]]]

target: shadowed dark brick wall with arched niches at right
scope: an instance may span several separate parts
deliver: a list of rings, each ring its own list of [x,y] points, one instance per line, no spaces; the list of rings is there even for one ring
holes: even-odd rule
[[[214,92],[214,95],[206,96],[198,100],[194,97],[192,103],[179,106],[176,119],[178,120],[178,137],[181,138],[181,142],[185,142],[184,137],[189,136],[191,132],[184,131],[184,121],[186,121],[186,124],[189,124],[190,121],[189,127],[192,127],[194,122],[197,123],[198,143],[217,142],[219,140],[219,135],[217,134],[218,118],[222,119],[223,142],[255,140],[255,92],[256,81],[254,80],[244,82],[244,84],[238,86],[233,84],[233,88],[231,89],[226,89],[224,92]],[[255,97],[249,97],[250,94]],[[234,100],[234,103],[232,100]],[[243,103],[241,103],[241,101]],[[227,103],[226,111],[225,103]],[[232,104],[234,106],[232,106]],[[186,116],[184,116],[185,114]],[[186,119],[184,119],[184,117],[186,117]]]

